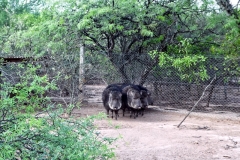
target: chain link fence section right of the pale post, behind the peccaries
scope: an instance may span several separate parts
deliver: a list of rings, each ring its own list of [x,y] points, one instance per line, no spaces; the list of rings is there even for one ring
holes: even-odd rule
[[[127,58],[125,56],[114,54],[112,56],[114,60],[109,60],[104,54],[85,55],[85,97],[89,101],[101,103],[100,94],[107,84],[141,83],[142,75],[154,63],[148,54],[133,54],[128,55],[130,57]],[[240,57],[232,59],[207,56],[205,58],[207,78],[199,80],[193,77],[195,79],[191,82],[183,79],[182,73],[171,65],[155,65],[143,84],[151,91],[154,106],[161,109],[190,110],[216,76],[195,111],[240,112]],[[193,74],[194,70],[198,72],[198,67],[200,66],[194,66],[189,74]]]

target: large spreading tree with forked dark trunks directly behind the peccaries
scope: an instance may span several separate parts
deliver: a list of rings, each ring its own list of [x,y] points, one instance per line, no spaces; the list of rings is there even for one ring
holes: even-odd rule
[[[210,10],[209,4],[198,5],[193,0],[82,1],[75,4],[79,9],[74,14],[79,17],[78,29],[87,47],[104,53],[122,79],[129,81],[125,65],[117,65],[114,54],[121,54],[126,63],[131,63],[139,54],[152,50],[167,52],[169,46],[176,47],[186,38],[197,46],[194,54],[207,51],[217,34],[222,33],[217,24],[224,21],[221,14]],[[213,16],[218,17],[214,22]],[[155,56],[142,74],[140,84],[158,63],[159,57]]]

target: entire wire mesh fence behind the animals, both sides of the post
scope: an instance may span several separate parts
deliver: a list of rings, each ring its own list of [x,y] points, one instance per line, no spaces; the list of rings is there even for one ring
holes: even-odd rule
[[[127,57],[128,56],[128,57]],[[114,54],[112,60],[105,54],[85,53],[84,75],[79,75],[79,54],[63,59],[46,58],[34,61],[40,65],[39,75],[47,74],[56,81],[59,90],[49,92],[51,97],[76,97],[79,90],[79,78],[84,77],[84,99],[89,103],[101,104],[102,90],[108,84],[130,82],[139,84],[142,75],[153,64],[148,54]],[[30,63],[30,62],[28,62]],[[191,109],[200,98],[205,87],[216,76],[216,80],[205,93],[196,111],[240,112],[240,58],[207,57],[205,61],[208,78],[187,81],[179,71],[168,65],[155,65],[144,80],[144,86],[152,93],[154,106],[159,108]],[[196,69],[198,66],[195,66]],[[1,65],[2,77],[16,83],[17,64]],[[197,72],[197,71],[196,71]],[[190,73],[189,73],[190,74]],[[191,73],[192,74],[192,73]],[[56,76],[58,78],[56,79]],[[72,96],[74,95],[74,96]]]

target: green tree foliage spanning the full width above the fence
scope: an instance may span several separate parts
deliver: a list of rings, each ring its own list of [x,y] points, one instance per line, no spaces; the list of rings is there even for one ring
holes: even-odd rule
[[[4,2],[2,8],[6,10],[12,1]],[[222,10],[212,0],[201,3],[195,0],[36,2],[39,5],[35,5],[35,12],[35,3],[17,5],[14,9],[18,12],[13,14],[3,10],[1,15],[5,18],[2,19],[11,22],[2,26],[2,52],[9,55],[51,55],[67,75],[78,74],[76,68],[81,43],[85,44],[86,55],[90,59],[96,55],[107,57],[110,65],[121,75],[121,81],[130,81],[130,76],[126,74],[127,64],[139,59],[140,55],[155,52],[152,62],[140,77],[140,84],[145,82],[151,70],[163,63],[159,59],[162,53],[171,57],[173,61],[170,65],[183,74],[180,77],[191,82],[207,79],[206,55],[223,53],[221,55],[225,56],[229,52],[239,55],[235,47],[238,44],[236,37],[239,37],[239,12],[229,1],[216,1]],[[23,6],[25,9],[22,9]],[[9,16],[14,18],[10,20]],[[11,29],[6,24],[11,24]],[[235,44],[228,45],[229,42]],[[175,55],[179,55],[176,62]],[[194,63],[198,55],[197,59],[203,60],[203,65],[197,70],[199,76],[194,80],[190,78],[194,75],[184,75],[192,74],[191,71],[186,72],[182,68],[198,68],[199,64]],[[189,61],[192,61],[191,65]],[[65,69],[66,65],[70,66],[71,72]],[[72,77],[71,80],[76,79]]]

